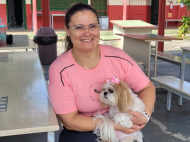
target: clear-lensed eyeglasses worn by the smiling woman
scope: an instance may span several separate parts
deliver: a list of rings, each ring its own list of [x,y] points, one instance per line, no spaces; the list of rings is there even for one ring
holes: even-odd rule
[[[101,25],[98,23],[90,24],[88,27],[85,27],[83,25],[74,25],[74,26],[69,26],[76,34],[84,34],[86,30],[91,34],[96,34],[100,30]]]

